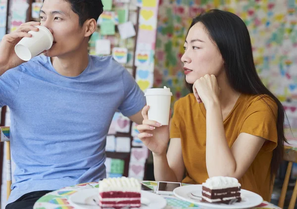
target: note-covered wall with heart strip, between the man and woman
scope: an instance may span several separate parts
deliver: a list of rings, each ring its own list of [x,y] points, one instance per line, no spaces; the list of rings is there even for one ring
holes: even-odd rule
[[[113,56],[135,77],[143,91],[151,88],[159,0],[102,0],[102,3],[104,11],[89,42],[90,54]],[[136,127],[121,113],[114,114],[106,139],[107,176],[145,178],[148,149],[137,138]]]

